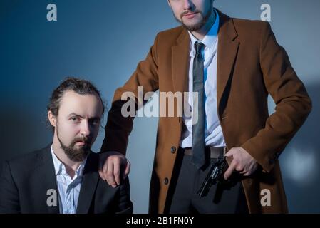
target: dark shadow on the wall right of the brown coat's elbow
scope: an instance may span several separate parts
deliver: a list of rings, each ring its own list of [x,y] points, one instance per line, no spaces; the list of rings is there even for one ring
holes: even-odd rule
[[[290,213],[320,213],[320,84],[306,89],[313,109],[280,157]]]

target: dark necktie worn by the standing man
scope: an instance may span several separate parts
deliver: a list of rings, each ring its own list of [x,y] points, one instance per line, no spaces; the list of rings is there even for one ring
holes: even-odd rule
[[[192,125],[192,164],[198,169],[205,165],[205,88],[202,50],[203,43],[195,43],[195,58],[193,60],[193,92],[198,94],[193,98],[193,118],[197,115],[197,122]],[[195,102],[198,104],[195,106]],[[197,108],[197,109],[195,109]],[[197,114],[195,114],[197,113]]]

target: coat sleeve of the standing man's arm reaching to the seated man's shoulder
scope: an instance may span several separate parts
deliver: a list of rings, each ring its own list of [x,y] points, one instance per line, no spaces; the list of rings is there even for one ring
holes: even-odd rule
[[[115,150],[123,155],[127,150],[128,137],[133,128],[133,115],[125,117],[121,113],[121,108],[130,100],[135,108],[143,105],[145,93],[158,90],[158,36],[155,43],[150,48],[148,56],[144,61],[140,61],[138,66],[123,87],[115,90],[113,103],[108,113],[107,124],[105,125],[105,138],[101,147],[101,152]],[[138,95],[138,87],[143,89],[143,93]],[[135,109],[137,110],[137,109]]]

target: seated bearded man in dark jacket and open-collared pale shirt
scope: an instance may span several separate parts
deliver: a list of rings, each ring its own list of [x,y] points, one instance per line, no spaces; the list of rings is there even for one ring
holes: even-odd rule
[[[132,213],[128,178],[108,185],[91,151],[103,112],[90,82],[63,81],[48,103],[52,144],[2,165],[0,213]]]

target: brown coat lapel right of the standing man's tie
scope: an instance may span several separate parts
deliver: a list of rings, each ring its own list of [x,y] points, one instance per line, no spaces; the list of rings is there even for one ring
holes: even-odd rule
[[[220,102],[234,66],[239,41],[236,40],[237,31],[234,28],[232,19],[220,11],[218,11],[218,14],[220,16],[220,25],[217,56],[217,104],[218,110],[220,110]]]

